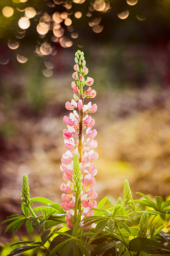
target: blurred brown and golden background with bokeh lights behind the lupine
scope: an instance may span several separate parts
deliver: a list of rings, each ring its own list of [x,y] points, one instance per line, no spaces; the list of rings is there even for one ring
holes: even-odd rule
[[[78,49],[97,91],[98,201],[124,179],[134,198],[170,194],[169,14],[168,0],[0,0],[0,222],[21,212],[23,173],[30,197],[61,203]]]

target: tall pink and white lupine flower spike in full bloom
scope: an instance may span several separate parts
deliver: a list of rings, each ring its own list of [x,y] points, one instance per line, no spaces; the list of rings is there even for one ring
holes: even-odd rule
[[[93,84],[93,78],[88,77],[86,80],[84,78],[88,69],[85,66],[84,53],[80,50],[75,53],[75,63],[75,72],[72,77],[77,82],[71,83],[75,94],[71,102],[65,103],[66,109],[72,112],[69,116],[63,117],[63,121],[67,125],[67,129],[63,130],[67,151],[61,159],[63,179],[67,182],[67,184],[61,184],[61,190],[65,192],[61,198],[63,200],[62,207],[67,211],[65,219],[68,228],[73,227],[74,219],[80,212],[82,212],[82,219],[79,226],[83,226],[83,218],[93,216],[91,208],[97,206],[95,201],[97,193],[93,186],[95,185],[94,176],[98,171],[95,164],[92,164],[98,158],[98,153],[94,151],[94,148],[97,147],[97,141],[94,140],[97,131],[92,129],[95,121],[89,116],[89,113],[94,113],[97,110],[97,105],[92,105],[91,102],[84,104],[84,98],[93,98],[96,92],[91,87],[86,88],[86,91],[83,92],[85,85]],[[77,140],[73,138],[75,135],[78,136]],[[85,229],[87,230],[88,227]]]

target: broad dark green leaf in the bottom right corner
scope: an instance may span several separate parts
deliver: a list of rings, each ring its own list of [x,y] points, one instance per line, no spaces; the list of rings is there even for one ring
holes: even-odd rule
[[[149,251],[155,249],[164,249],[170,251],[165,245],[155,241],[154,239],[148,239],[145,237],[137,237],[129,242],[130,251]]]

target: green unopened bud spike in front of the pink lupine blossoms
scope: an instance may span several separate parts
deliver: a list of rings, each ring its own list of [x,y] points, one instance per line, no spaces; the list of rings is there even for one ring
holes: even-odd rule
[[[77,153],[75,153],[73,156],[72,183],[73,183],[72,191],[80,194],[82,191],[82,174],[79,166],[79,156]]]

